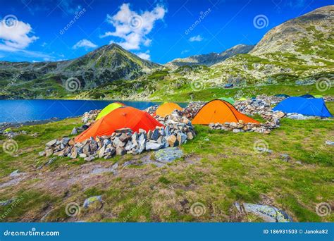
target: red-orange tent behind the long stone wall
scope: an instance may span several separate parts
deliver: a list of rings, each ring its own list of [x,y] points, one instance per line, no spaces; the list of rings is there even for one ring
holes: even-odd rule
[[[133,107],[120,107],[100,118],[94,125],[75,137],[75,142],[82,142],[90,137],[111,135],[115,130],[121,128],[130,128],[133,131],[138,131],[141,128],[149,131],[154,130],[156,126],[163,125],[149,113]]]

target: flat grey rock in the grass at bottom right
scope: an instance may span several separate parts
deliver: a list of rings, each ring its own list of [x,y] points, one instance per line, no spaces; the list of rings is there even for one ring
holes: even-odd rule
[[[255,214],[256,216],[262,218],[265,222],[292,222],[292,218],[288,216],[285,211],[280,210],[274,206],[247,203],[244,203],[242,206],[240,206],[240,204],[235,203],[235,207],[240,212],[246,211],[247,213]]]

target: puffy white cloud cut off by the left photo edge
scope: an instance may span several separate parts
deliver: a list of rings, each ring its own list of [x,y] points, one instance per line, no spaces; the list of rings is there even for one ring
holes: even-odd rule
[[[18,51],[25,49],[38,37],[32,35],[32,27],[29,23],[16,20],[15,24],[8,27],[4,21],[0,23],[0,49],[4,51]]]

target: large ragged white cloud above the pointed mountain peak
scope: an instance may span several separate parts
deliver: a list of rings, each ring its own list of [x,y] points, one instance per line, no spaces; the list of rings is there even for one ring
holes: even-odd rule
[[[152,11],[136,13],[130,10],[130,4],[122,4],[118,13],[107,16],[107,21],[115,27],[115,32],[106,32],[101,37],[119,37],[123,41],[116,44],[128,50],[140,49],[142,44],[147,47],[151,44],[147,35],[153,29],[156,20],[162,20],[166,12],[164,6],[158,5]]]

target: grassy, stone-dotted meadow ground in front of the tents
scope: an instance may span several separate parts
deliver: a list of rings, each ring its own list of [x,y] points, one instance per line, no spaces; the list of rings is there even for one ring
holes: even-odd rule
[[[327,105],[334,113],[334,103]],[[197,136],[180,147],[184,156],[163,166],[154,165],[153,152],[89,163],[38,155],[80,124],[25,126],[14,155],[0,149],[1,221],[261,221],[238,213],[235,202],[270,204],[294,221],[334,221],[333,212],[316,214],[317,204],[334,206],[333,146],[326,144],[333,120],[283,118],[268,135],[195,126]],[[101,202],[84,208],[94,196]],[[192,209],[198,203],[200,215]]]

